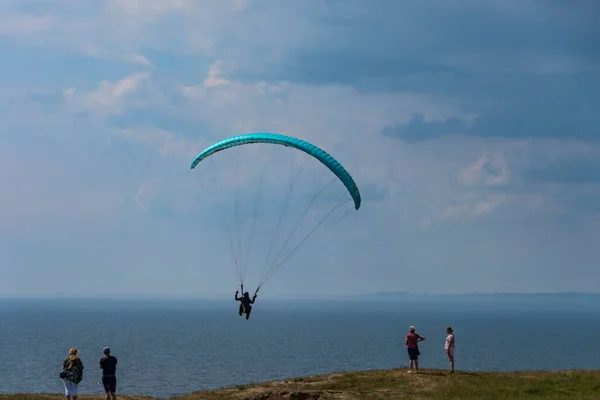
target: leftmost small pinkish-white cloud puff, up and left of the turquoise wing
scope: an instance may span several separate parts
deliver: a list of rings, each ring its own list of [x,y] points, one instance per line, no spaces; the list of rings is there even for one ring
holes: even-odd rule
[[[127,96],[140,89],[150,77],[149,72],[131,74],[119,81],[102,81],[91,92],[79,93],[74,88],[63,91],[65,102],[75,111],[92,111],[98,114],[120,114]]]

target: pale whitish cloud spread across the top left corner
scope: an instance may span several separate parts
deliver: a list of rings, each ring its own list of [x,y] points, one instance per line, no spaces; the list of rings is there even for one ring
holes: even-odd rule
[[[22,43],[79,51],[94,58],[150,66],[148,49],[207,52],[230,14],[245,9],[241,0],[104,0],[33,2],[51,14],[14,12],[22,2],[0,4],[0,36]],[[174,22],[174,24],[172,24]],[[25,41],[26,39],[26,41]],[[175,47],[174,47],[175,46]]]

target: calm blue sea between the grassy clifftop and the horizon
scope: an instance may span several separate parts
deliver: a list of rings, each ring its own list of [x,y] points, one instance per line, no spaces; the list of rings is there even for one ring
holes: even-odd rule
[[[424,368],[447,368],[445,327],[462,370],[600,369],[600,305],[585,302],[257,302],[246,321],[225,301],[0,300],[0,392],[62,392],[70,347],[81,393],[101,394],[98,361],[119,359],[118,391],[195,390],[407,365],[409,325]]]

